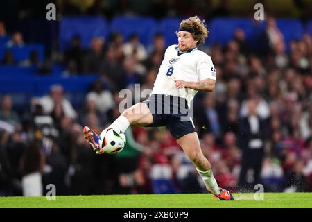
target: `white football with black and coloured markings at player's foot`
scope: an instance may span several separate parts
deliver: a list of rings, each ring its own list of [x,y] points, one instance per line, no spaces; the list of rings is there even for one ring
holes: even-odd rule
[[[107,128],[100,134],[100,145],[107,154],[117,154],[125,147],[125,134],[115,128]]]

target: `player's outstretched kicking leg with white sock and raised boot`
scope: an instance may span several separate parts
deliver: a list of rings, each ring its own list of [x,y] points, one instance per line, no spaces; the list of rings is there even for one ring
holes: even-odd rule
[[[137,103],[126,109],[108,128],[116,128],[125,133],[130,125],[147,126],[153,123],[153,116],[146,103]],[[83,128],[83,135],[97,154],[103,153],[99,145],[99,134],[88,126]]]

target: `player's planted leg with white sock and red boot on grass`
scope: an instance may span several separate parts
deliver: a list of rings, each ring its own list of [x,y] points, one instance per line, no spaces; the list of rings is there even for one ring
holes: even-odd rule
[[[233,200],[233,196],[229,191],[218,186],[214,174],[212,173],[211,164],[202,154],[197,133],[188,133],[177,139],[177,143],[182,147],[184,153],[187,154],[191,162],[195,165],[202,180],[205,182],[206,188],[211,191],[215,197],[220,198],[221,200]]]

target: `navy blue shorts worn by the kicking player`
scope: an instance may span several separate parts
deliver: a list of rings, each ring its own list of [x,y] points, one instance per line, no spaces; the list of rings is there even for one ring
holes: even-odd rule
[[[143,101],[153,115],[153,123],[147,127],[166,126],[175,139],[196,132],[193,115],[187,100],[177,96],[151,94]]]

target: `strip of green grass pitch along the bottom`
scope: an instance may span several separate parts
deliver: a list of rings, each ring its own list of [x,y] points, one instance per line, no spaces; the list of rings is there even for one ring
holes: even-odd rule
[[[0,197],[0,208],[312,208],[312,193],[233,194],[234,201],[221,201],[212,194],[142,194],[103,196]]]

